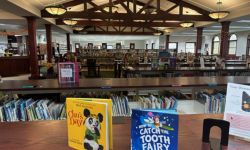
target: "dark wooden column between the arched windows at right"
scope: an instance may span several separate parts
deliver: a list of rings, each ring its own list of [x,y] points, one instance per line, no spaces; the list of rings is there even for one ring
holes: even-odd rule
[[[229,25],[230,21],[221,22],[221,43],[220,43],[220,55],[222,58],[226,58],[229,50]]]

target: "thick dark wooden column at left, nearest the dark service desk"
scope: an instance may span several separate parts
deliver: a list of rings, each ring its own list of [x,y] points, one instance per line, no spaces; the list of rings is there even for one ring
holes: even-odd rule
[[[37,45],[36,45],[36,18],[27,17],[28,22],[28,43],[30,54],[30,79],[38,79],[38,59],[37,59]]]

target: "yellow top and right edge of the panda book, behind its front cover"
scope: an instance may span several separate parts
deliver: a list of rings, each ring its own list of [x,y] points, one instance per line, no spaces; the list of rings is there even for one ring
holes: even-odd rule
[[[113,119],[112,119],[112,100],[111,99],[101,99],[101,98],[69,98],[74,100],[84,100],[84,101],[96,101],[108,104],[108,128],[109,128],[109,149],[113,149]]]

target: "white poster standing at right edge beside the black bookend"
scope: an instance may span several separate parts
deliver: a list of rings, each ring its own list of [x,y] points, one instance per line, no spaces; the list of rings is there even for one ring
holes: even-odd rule
[[[230,135],[250,139],[250,86],[228,83],[224,120]]]

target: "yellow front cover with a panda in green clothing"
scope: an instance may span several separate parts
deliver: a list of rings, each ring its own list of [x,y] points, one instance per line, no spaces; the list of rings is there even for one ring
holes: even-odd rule
[[[67,98],[68,144],[78,150],[109,150],[108,104]]]

